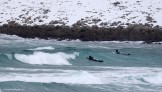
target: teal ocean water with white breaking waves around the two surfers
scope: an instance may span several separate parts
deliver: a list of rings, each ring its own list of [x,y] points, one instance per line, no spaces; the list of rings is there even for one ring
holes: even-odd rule
[[[1,34],[0,92],[162,92],[162,45]]]

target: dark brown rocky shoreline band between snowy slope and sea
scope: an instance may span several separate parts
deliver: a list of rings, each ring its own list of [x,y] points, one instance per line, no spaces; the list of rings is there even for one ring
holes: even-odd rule
[[[54,26],[54,25],[19,25],[8,23],[0,26],[0,33],[17,35],[23,38],[41,38],[81,41],[145,41],[146,43],[162,41],[162,27],[147,24],[130,24],[128,27],[94,26]]]

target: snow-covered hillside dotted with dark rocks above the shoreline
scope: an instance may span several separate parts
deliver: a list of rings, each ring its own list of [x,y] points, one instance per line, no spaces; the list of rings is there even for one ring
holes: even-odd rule
[[[41,25],[79,23],[162,26],[162,0],[1,0],[0,25],[9,21]]]

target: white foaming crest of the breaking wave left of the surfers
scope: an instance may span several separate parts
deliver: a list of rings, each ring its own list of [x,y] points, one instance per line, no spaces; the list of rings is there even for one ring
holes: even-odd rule
[[[79,53],[76,52],[73,54],[34,52],[31,55],[15,54],[14,56],[17,60],[28,64],[71,65],[68,60],[75,59],[77,55]]]

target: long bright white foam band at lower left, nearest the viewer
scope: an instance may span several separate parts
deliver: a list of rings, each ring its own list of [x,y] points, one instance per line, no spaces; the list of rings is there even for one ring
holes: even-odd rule
[[[101,80],[86,71],[68,71],[64,73],[34,73],[0,75],[0,81],[25,81],[43,83],[67,83],[67,84],[102,84]]]

